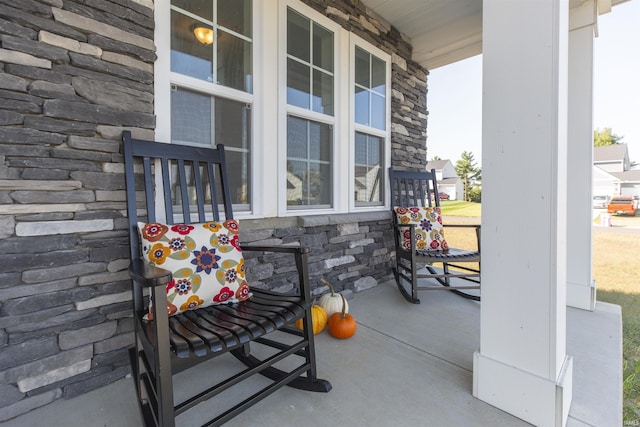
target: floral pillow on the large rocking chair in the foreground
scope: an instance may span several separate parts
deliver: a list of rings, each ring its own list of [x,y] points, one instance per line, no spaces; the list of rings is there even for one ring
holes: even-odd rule
[[[167,284],[169,316],[251,296],[237,221],[175,225],[139,222],[138,229],[144,259],[173,274]]]

